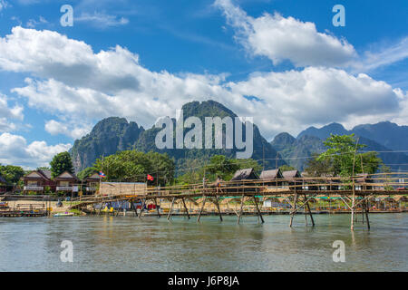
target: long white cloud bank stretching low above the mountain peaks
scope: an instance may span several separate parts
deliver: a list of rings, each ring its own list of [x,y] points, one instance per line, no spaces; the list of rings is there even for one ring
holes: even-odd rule
[[[120,116],[146,128],[159,117],[174,116],[186,102],[211,99],[254,117],[270,139],[328,121],[392,120],[403,113],[407,98],[367,74],[325,66],[252,73],[241,82],[227,82],[225,74],[152,72],[138,54],[119,45],[94,53],[82,41],[21,27],[0,38],[0,69],[29,74],[13,92],[57,117],[46,123],[47,131],[70,137],[75,128],[88,128],[79,121]]]

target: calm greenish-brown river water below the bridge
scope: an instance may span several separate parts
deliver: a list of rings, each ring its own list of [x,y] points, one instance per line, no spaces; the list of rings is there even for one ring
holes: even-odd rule
[[[0,271],[407,271],[408,214],[196,218],[0,218]],[[358,217],[360,218],[360,217]],[[310,225],[310,221],[309,221]],[[73,243],[73,263],[60,259]],[[333,243],[345,243],[345,262]]]

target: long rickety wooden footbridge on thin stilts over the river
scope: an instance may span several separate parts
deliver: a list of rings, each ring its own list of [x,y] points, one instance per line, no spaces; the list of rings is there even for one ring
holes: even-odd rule
[[[253,200],[260,222],[264,222],[262,211],[258,205],[259,198],[272,198],[279,196],[285,198],[291,205],[289,227],[293,225],[295,214],[303,211],[307,218],[310,218],[312,226],[315,226],[315,220],[310,209],[310,201],[317,196],[328,198],[339,198],[349,209],[351,213],[351,228],[355,226],[355,215],[361,212],[366,220],[366,226],[370,228],[368,217],[369,202],[371,198],[397,196],[399,198],[408,198],[408,173],[386,173],[374,174],[368,176],[355,177],[311,177],[311,178],[293,178],[293,179],[251,179],[220,181],[211,184],[190,184],[170,187],[145,187],[138,189],[123,189],[114,194],[104,194],[103,192],[75,199],[76,204],[71,208],[87,210],[91,207],[96,211],[94,205],[100,205],[99,212],[102,210],[102,204],[128,201],[131,204],[131,210],[138,218],[143,215],[143,210],[138,212],[135,202],[141,202],[141,208],[148,203],[154,204],[157,208],[157,216],[160,217],[158,199],[168,199],[171,202],[167,218],[173,215],[175,203],[179,202],[184,208],[184,214],[190,218],[191,213],[186,206],[186,200],[191,198],[202,198],[202,204],[199,208],[199,221],[203,215],[206,204],[213,203],[217,208],[219,219],[222,221],[222,212],[219,207],[220,198],[240,198],[240,208],[236,211],[238,223],[243,216],[243,207],[245,200]],[[88,209],[89,211],[89,209]],[[119,211],[116,212],[116,215]],[[363,218],[364,221],[364,218]]]

